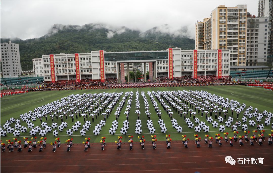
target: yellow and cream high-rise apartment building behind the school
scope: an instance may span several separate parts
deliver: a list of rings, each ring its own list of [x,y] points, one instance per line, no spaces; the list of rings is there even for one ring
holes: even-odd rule
[[[195,49],[230,50],[230,65],[245,66],[247,5],[220,5],[212,10],[210,16],[195,25]],[[204,26],[203,32],[199,28],[201,25]]]

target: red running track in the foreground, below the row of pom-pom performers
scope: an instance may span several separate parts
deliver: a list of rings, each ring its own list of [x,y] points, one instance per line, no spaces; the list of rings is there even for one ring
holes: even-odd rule
[[[208,148],[208,144],[201,142],[201,147],[197,148],[194,142],[188,143],[185,148],[182,141],[172,141],[171,148],[167,149],[164,141],[158,141],[154,150],[152,144],[146,143],[145,149],[141,149],[140,144],[133,144],[133,150],[129,150],[129,144],[123,142],[121,150],[117,150],[115,143],[107,143],[102,151],[100,143],[92,143],[88,151],[84,151],[83,144],[73,144],[69,152],[62,144],[53,152],[53,147],[47,144],[42,152],[39,148],[33,148],[28,152],[28,148],[23,148],[22,152],[1,153],[1,173],[5,172],[273,172],[273,145],[239,146],[239,142],[234,142],[230,147],[229,143],[223,142],[222,147],[213,142],[213,147]],[[225,162],[226,156],[232,156],[236,160],[235,165]],[[257,159],[257,164],[238,164],[237,158]],[[258,158],[263,158],[263,164],[258,164]]]

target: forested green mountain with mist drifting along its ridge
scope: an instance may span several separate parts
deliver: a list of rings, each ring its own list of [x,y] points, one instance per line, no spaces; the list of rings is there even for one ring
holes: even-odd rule
[[[194,40],[189,39],[186,33],[187,28],[171,31],[168,25],[142,33],[125,26],[114,28],[93,23],[83,26],[55,24],[43,37],[28,40],[1,38],[1,43],[11,41],[19,44],[21,67],[26,70],[26,65],[32,64],[32,58],[39,58],[43,54],[90,53],[92,50],[166,50],[169,46],[192,50]]]

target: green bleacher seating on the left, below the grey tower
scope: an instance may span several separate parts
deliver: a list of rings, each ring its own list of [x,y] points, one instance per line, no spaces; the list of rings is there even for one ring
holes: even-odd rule
[[[26,83],[35,84],[37,81],[44,81],[44,77],[1,78],[1,84],[3,85],[25,85]]]

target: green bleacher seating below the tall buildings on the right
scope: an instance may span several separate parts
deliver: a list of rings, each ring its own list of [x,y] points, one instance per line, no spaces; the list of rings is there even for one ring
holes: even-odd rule
[[[256,77],[268,77],[269,70],[250,70],[250,71],[230,71],[229,74],[232,78],[256,78]],[[238,73],[238,74],[236,74]],[[273,74],[272,74],[273,75]]]

